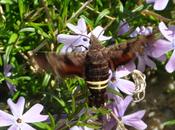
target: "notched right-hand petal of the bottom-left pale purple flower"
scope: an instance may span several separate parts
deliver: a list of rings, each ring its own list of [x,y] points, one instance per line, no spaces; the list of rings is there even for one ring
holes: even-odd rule
[[[40,115],[43,110],[43,105],[35,104],[24,115],[23,120],[26,123],[41,122],[47,120],[47,115]]]

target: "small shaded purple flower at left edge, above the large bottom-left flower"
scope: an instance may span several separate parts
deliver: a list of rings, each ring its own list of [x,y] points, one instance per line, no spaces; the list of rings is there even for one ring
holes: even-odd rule
[[[4,76],[5,77],[8,78],[12,75],[11,69],[12,69],[12,66],[10,64],[4,65]],[[16,87],[7,80],[5,80],[5,82],[7,84],[7,87],[10,90],[10,93],[13,94],[16,91]]]

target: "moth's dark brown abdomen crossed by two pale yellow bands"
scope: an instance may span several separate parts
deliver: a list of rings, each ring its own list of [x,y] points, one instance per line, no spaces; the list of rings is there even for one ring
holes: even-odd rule
[[[85,78],[91,93],[89,96],[89,105],[96,107],[104,105],[109,78],[109,65],[101,51],[93,50],[87,53],[85,60]]]

